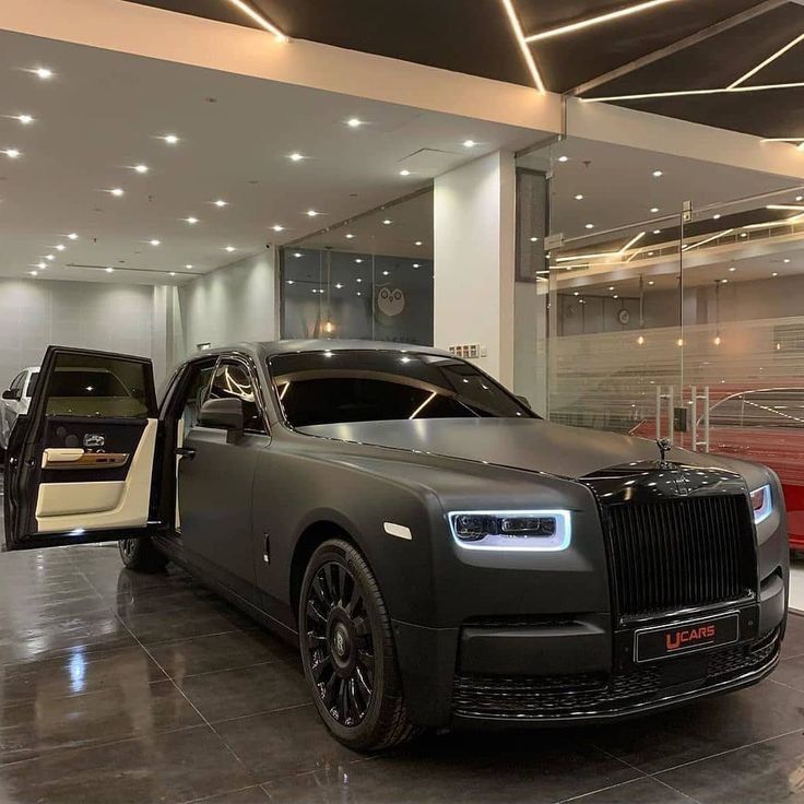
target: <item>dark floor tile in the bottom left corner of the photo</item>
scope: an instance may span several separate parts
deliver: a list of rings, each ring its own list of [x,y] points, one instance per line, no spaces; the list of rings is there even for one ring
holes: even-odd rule
[[[177,804],[253,784],[208,726],[0,768],[3,804]]]

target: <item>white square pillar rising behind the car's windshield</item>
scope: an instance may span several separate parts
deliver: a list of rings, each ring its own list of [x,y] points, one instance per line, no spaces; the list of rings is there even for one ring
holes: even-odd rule
[[[498,151],[435,181],[435,345],[478,343],[477,365],[513,382],[513,154]]]

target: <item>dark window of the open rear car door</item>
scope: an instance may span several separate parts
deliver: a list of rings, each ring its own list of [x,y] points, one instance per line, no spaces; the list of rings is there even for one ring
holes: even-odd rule
[[[48,416],[156,416],[151,365],[125,357],[60,353],[47,377]]]

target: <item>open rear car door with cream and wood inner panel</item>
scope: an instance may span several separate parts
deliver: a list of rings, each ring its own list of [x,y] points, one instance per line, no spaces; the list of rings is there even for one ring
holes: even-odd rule
[[[5,459],[5,545],[49,547],[161,530],[153,366],[49,346]]]

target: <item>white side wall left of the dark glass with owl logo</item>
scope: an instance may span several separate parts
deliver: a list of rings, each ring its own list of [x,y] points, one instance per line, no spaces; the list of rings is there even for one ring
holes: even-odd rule
[[[247,257],[178,288],[168,309],[175,362],[199,343],[224,345],[279,338],[275,249]]]

